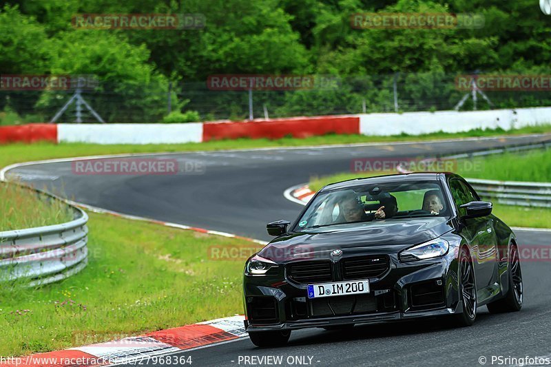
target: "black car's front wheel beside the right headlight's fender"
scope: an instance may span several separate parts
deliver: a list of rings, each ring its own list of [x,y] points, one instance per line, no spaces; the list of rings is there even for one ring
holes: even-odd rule
[[[457,327],[471,326],[477,318],[477,283],[472,258],[466,247],[459,250],[459,300],[463,312],[453,315],[452,324]]]

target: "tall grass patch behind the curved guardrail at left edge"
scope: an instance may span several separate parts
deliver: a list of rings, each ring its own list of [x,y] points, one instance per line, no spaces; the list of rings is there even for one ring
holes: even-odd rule
[[[72,211],[64,202],[39,196],[19,185],[0,182],[0,231],[69,222]]]

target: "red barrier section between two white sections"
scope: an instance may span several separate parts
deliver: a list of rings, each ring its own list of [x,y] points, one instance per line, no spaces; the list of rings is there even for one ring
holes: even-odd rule
[[[320,116],[276,118],[248,122],[222,122],[203,124],[203,141],[237,138],[280,139],[285,136],[308,138],[330,133],[358,134],[360,118],[357,116]]]

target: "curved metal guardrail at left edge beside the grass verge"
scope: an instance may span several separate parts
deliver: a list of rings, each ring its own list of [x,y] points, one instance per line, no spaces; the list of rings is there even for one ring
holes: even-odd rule
[[[49,193],[27,188],[65,202]],[[70,205],[70,208],[74,211],[71,222],[0,232],[2,282],[23,280],[24,286],[40,286],[63,280],[85,268],[88,216],[77,207]]]

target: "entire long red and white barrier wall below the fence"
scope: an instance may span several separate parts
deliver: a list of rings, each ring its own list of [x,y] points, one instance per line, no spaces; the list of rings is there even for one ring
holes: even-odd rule
[[[488,111],[404,112],[275,118],[253,121],[134,124],[30,124],[0,127],[0,144],[48,140],[63,143],[177,144],[236,138],[307,138],[324,134],[410,135],[466,132],[551,123],[551,107]]]

